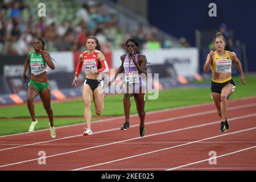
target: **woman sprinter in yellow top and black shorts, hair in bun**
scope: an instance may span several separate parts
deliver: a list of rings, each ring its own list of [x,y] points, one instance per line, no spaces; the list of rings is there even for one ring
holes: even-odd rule
[[[210,51],[205,61],[204,71],[208,72],[212,68],[211,91],[214,104],[217,107],[217,113],[221,117],[221,132],[229,129],[227,120],[228,98],[234,92],[236,85],[232,80],[232,63],[236,63],[238,71],[241,74],[241,82],[245,85],[245,76],[243,75],[242,65],[237,58],[236,53],[225,51],[226,40],[221,32],[216,34],[214,48],[216,51]]]

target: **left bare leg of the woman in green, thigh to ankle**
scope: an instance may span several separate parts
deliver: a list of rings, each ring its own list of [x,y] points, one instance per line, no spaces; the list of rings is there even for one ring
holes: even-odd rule
[[[32,121],[36,121],[34,100],[36,96],[38,96],[38,94],[39,94],[38,90],[33,85],[29,84],[28,90],[27,90],[27,108],[30,111]]]

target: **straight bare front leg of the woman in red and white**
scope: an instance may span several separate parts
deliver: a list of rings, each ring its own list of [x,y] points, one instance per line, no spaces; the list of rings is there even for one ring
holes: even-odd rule
[[[84,119],[87,128],[90,129],[90,122],[92,120],[92,112],[90,111],[90,101],[92,100],[92,89],[88,84],[84,85],[82,90],[82,98],[84,98]]]

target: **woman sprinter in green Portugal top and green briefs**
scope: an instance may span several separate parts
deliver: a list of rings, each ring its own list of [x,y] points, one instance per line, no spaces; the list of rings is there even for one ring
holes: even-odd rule
[[[51,69],[55,69],[55,65],[51,60],[51,56],[44,49],[44,40],[42,38],[36,38],[33,43],[34,52],[30,52],[27,55],[27,59],[24,63],[23,78],[25,82],[28,79],[27,69],[28,65],[31,67],[31,79],[28,83],[27,90],[27,107],[30,111],[32,118],[32,123],[28,131],[32,132],[35,130],[35,125],[38,123],[38,120],[35,117],[34,110],[34,100],[36,96],[40,96],[44,109],[48,114],[49,118],[49,128],[51,137],[56,137],[55,127],[53,123],[53,111],[51,108],[51,93],[49,89],[49,82],[47,80],[47,66]]]

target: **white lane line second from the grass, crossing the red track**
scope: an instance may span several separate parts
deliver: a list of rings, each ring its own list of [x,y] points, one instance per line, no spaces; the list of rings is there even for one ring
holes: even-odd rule
[[[230,107],[228,110],[243,109],[243,108],[254,107],[254,106],[256,106],[256,103],[255,103],[255,104],[241,105],[241,106],[234,106],[234,107]],[[212,114],[212,113],[216,113],[216,110],[209,110],[209,111],[204,111],[204,112],[199,112],[199,113],[181,115],[181,116],[179,116],[179,117],[173,117],[173,118],[168,118],[168,119],[160,119],[160,120],[157,120],[157,121],[146,122],[146,125],[151,125],[151,124],[160,123],[160,122],[174,121],[174,120],[177,120],[177,119],[184,119],[184,118],[195,117],[195,116],[205,115],[205,114]],[[230,119],[229,119],[229,121],[230,121]],[[137,124],[137,125],[131,125],[130,127],[137,127],[137,126],[139,126],[139,124]],[[109,130],[96,131],[96,132],[94,132],[94,134],[105,133],[105,132],[115,131],[115,130],[119,130],[119,129],[120,129],[120,128],[118,127],[118,128],[109,129]],[[10,148],[3,148],[3,149],[1,149],[0,151],[11,150],[11,149],[20,148],[20,147],[27,147],[27,146],[32,146],[32,145],[35,145],[35,144],[42,144],[42,143],[47,143],[47,142],[55,142],[55,141],[58,141],[58,140],[69,139],[69,138],[75,138],[75,137],[82,137],[82,134],[73,135],[73,136],[70,136],[70,137],[64,137],[64,138],[58,138],[58,139],[52,139],[52,140],[46,140],[46,141],[42,141],[42,142],[36,142],[36,143],[25,144],[25,145],[22,145],[22,146],[16,146],[16,147],[10,147]]]

